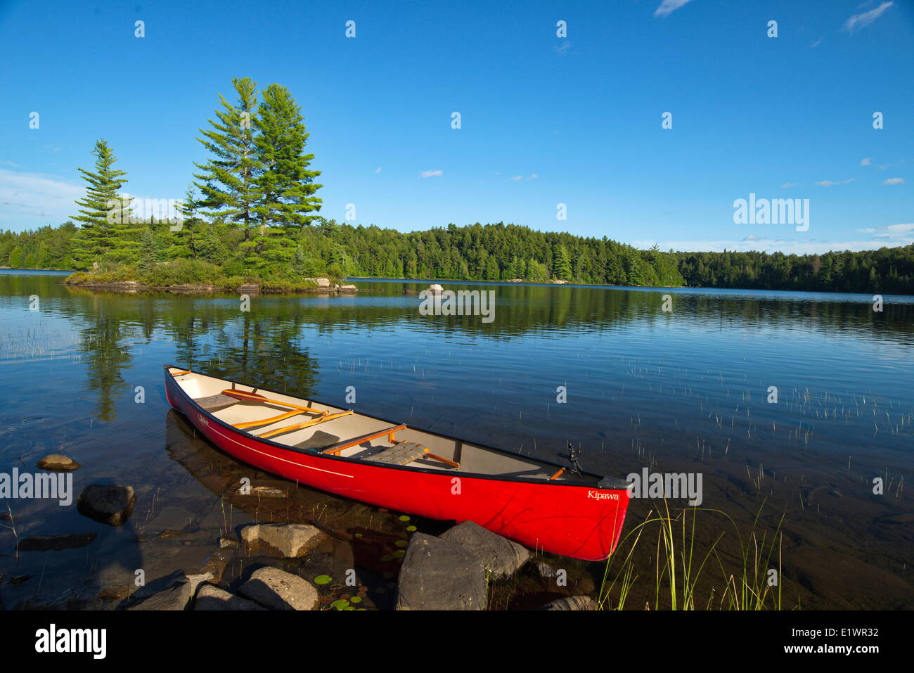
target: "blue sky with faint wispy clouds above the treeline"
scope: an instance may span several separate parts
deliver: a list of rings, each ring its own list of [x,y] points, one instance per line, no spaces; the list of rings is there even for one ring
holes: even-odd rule
[[[197,129],[249,76],[302,106],[338,221],[352,203],[403,231],[505,221],[664,250],[914,242],[912,0],[0,0],[0,48],[3,229],[74,214],[99,137],[131,195],[181,198]],[[810,199],[809,229],[735,224],[749,193]]]

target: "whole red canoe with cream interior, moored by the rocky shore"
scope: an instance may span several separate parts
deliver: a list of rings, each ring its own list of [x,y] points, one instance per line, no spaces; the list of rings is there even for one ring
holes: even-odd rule
[[[314,400],[165,367],[165,394],[210,442],[286,479],[421,517],[474,521],[588,561],[622,533],[622,479],[408,427]]]

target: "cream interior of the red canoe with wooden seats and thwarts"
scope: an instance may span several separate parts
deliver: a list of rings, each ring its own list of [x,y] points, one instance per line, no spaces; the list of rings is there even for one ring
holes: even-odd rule
[[[239,391],[255,391],[257,394],[271,400],[288,402],[302,407],[309,407],[317,411],[329,411],[331,414],[347,411],[318,401],[295,398],[272,390],[255,389],[251,386],[233,383],[225,379],[208,377],[197,372],[184,372],[183,369],[169,368],[175,376],[175,382],[194,401],[197,401],[212,416],[229,425],[260,421],[290,411],[288,407],[265,403],[260,401],[239,401],[220,396],[223,390],[234,389]],[[256,427],[239,429],[239,432],[250,433],[258,436],[271,431],[280,430],[301,422],[317,418],[314,413],[297,414],[276,422],[258,425]],[[377,433],[399,423],[384,421],[353,412],[333,420],[319,422],[300,430],[272,435],[271,442],[280,443],[290,449],[302,451],[307,449],[320,450],[333,443],[343,443],[362,435]],[[344,449],[336,455],[355,460],[377,461],[378,454],[388,449],[393,449],[397,443],[416,443],[446,460],[458,463],[454,467],[446,463],[429,458],[427,455],[401,464],[405,467],[423,468],[427,470],[442,470],[454,474],[505,476],[512,478],[529,478],[533,480],[550,480],[559,470],[557,465],[538,461],[535,458],[498,451],[484,446],[466,443],[462,440],[444,437],[439,434],[417,430],[407,426],[395,434],[395,442],[388,440],[384,434],[377,439],[371,439],[355,446]],[[311,444],[309,446],[309,444]],[[421,452],[420,452],[421,453]],[[390,454],[387,454],[390,455]],[[381,465],[381,463],[378,463]],[[573,475],[568,471],[551,479],[552,484],[573,483],[575,485],[595,486],[600,480],[599,475],[585,474],[583,477]]]

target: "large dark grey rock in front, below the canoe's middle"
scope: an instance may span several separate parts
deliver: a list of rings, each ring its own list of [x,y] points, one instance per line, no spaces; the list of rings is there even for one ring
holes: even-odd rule
[[[400,566],[398,610],[484,610],[487,598],[485,569],[470,550],[413,534]]]

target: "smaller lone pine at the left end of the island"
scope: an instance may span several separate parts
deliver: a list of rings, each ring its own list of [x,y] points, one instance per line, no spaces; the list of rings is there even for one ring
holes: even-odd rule
[[[73,218],[82,223],[72,241],[73,259],[81,268],[118,249],[117,226],[129,223],[131,216],[130,199],[121,194],[127,174],[113,167],[117,157],[104,138],[96,141],[92,155],[95,172],[79,169],[89,187],[85,198],[76,202],[80,215]]]

